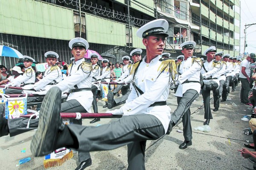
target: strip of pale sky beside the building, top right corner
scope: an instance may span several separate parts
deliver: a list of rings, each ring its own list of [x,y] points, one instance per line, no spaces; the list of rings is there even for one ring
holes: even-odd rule
[[[245,52],[256,53],[256,9],[255,9],[256,0],[241,0],[241,27],[240,27],[240,36],[241,36],[241,50],[244,52],[244,28],[246,24],[255,25],[250,26],[246,29],[246,42],[247,47]]]

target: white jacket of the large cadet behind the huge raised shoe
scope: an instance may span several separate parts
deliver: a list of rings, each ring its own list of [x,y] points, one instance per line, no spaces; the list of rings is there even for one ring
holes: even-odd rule
[[[92,87],[92,65],[85,62],[84,58],[78,61],[73,61],[73,63],[68,68],[68,76],[66,79],[59,82],[56,86],[61,89],[61,91],[66,91],[68,89],[75,89],[74,85],[80,88],[91,88]],[[92,91],[78,91],[70,93],[67,97],[69,100],[77,100],[87,112],[90,111],[90,107],[93,102]]]

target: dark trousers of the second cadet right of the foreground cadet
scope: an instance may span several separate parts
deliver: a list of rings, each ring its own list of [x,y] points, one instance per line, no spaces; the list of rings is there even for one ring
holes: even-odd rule
[[[217,82],[211,80],[209,82],[204,82],[204,87],[202,89],[202,96],[204,99],[204,119],[213,119],[210,107],[210,93],[217,94],[215,91],[218,88]]]

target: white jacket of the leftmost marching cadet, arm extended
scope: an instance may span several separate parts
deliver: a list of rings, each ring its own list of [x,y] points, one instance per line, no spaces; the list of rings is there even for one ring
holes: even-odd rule
[[[20,85],[21,83],[24,83],[23,89],[32,89],[35,83],[35,71],[32,69],[32,67],[25,68],[25,72],[23,73],[22,77],[18,79],[14,79],[14,81],[11,83],[12,86]],[[32,83],[32,84],[30,84]],[[29,85],[26,85],[29,84]]]

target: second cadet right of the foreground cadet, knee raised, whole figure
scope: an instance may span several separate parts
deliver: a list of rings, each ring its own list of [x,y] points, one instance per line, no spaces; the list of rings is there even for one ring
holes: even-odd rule
[[[204,56],[207,56],[206,62],[203,63],[203,68],[201,69],[201,74],[203,76],[203,88],[202,96],[204,99],[204,125],[209,125],[210,119],[212,119],[212,112],[210,108],[210,92],[212,91],[214,96],[217,93],[215,92],[218,89],[220,82],[218,80],[218,71],[221,68],[221,63],[215,61],[215,46],[211,46],[204,51]]]

